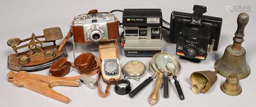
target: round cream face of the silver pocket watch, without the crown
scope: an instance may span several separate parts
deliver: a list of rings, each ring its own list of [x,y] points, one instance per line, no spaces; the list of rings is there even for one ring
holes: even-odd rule
[[[124,65],[124,72],[129,75],[141,75],[145,72],[145,65],[140,61],[129,61]]]

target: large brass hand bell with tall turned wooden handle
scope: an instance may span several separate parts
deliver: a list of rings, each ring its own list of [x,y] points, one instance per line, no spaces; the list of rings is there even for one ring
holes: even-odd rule
[[[227,46],[223,56],[215,62],[218,73],[226,78],[232,73],[236,73],[239,79],[250,75],[250,67],[246,63],[245,48],[241,46],[244,41],[244,29],[248,21],[248,14],[239,14],[238,29],[234,33],[233,44]]]

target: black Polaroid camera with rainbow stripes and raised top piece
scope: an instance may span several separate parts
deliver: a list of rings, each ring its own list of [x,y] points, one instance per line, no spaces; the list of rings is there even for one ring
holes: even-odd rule
[[[205,60],[218,49],[222,18],[205,16],[205,6],[194,5],[194,12],[173,11],[170,16],[170,42],[176,43],[176,55]]]

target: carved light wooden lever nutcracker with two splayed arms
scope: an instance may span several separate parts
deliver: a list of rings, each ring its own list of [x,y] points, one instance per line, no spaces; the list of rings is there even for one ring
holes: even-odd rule
[[[17,73],[10,71],[7,74],[8,82],[15,84],[18,87],[25,87],[41,95],[53,98],[55,100],[68,103],[69,98],[52,90],[55,86],[80,86],[80,82],[75,81],[81,75],[74,77],[55,77],[39,74],[32,74],[26,71]]]

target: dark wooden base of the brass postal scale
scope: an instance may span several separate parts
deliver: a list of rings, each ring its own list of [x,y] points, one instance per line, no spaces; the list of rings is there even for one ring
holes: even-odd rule
[[[8,56],[8,68],[14,71],[38,71],[42,69],[47,69],[50,65],[58,60],[60,57],[67,57],[67,51],[63,48],[58,52],[59,45],[52,45],[44,47],[45,53],[39,54],[34,57],[28,57],[28,51],[23,52],[20,55],[16,55],[15,53]],[[47,52],[53,52],[54,56],[51,58],[47,57]],[[36,53],[35,53],[36,54]],[[26,58],[25,64],[20,63],[22,58]],[[27,59],[28,58],[28,59]]]

